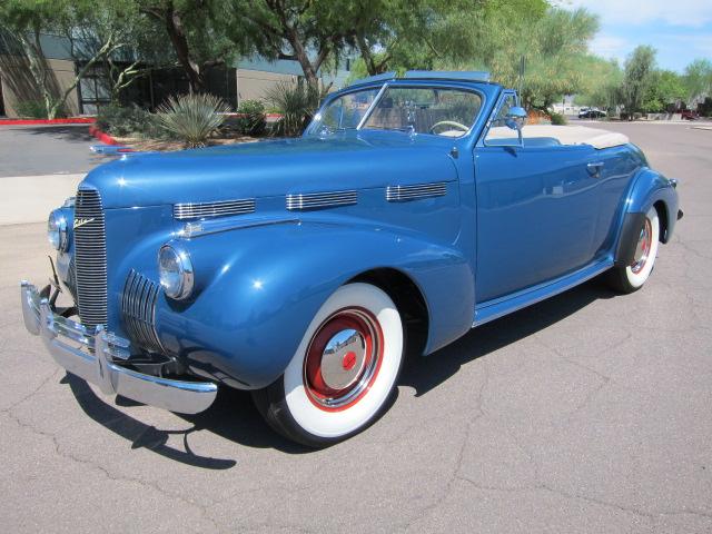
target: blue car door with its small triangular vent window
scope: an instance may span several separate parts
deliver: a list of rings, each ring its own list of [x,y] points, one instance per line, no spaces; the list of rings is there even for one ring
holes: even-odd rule
[[[505,93],[490,128],[506,129]],[[475,148],[476,297],[484,303],[555,279],[595,255],[597,168],[593,147],[555,139],[484,137]],[[589,164],[594,164],[590,167]]]

